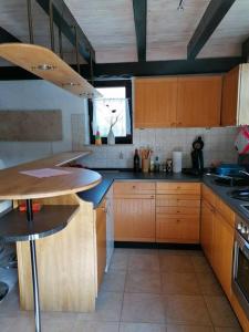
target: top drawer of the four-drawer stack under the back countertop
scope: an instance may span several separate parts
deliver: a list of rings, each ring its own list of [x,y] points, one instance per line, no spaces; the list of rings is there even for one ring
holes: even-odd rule
[[[156,194],[189,194],[200,195],[198,183],[156,183]]]

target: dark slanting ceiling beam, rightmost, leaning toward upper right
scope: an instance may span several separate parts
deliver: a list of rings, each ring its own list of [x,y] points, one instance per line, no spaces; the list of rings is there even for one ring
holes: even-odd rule
[[[188,59],[195,59],[236,0],[211,0],[188,45]]]

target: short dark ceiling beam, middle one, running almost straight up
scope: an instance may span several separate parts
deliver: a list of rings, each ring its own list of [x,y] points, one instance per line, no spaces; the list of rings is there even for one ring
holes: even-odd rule
[[[133,0],[138,61],[146,61],[147,0]]]

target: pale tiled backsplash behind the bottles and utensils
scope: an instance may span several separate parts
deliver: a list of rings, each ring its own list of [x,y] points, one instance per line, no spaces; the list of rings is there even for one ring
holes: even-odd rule
[[[135,148],[149,145],[153,156],[158,156],[160,163],[170,158],[173,151],[181,151],[183,167],[191,167],[191,144],[200,135],[205,143],[205,166],[217,160],[236,163],[238,154],[234,142],[237,132],[236,127],[134,129],[133,145],[87,146],[93,154],[81,162],[92,168],[132,168]]]

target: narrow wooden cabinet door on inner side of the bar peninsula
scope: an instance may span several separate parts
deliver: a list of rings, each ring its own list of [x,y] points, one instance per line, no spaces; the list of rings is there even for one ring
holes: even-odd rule
[[[97,289],[100,289],[106,266],[106,211],[105,205],[96,209],[96,262]]]

